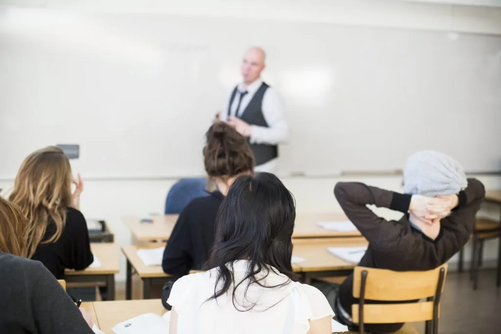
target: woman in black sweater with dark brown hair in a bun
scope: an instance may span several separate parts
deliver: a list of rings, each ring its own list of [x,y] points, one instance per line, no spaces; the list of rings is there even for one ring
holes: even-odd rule
[[[247,141],[222,122],[214,123],[206,133],[203,161],[217,190],[193,199],[179,215],[162,260],[163,271],[171,275],[201,269],[214,242],[217,211],[229,186],[240,175],[254,174],[254,155]]]

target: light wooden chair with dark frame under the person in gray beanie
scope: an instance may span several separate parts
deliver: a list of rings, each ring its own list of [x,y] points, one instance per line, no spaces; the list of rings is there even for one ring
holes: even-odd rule
[[[364,323],[400,323],[426,321],[426,334],[438,333],[440,296],[443,291],[447,264],[428,271],[392,271],[356,267],[353,273],[353,296],[359,298],[352,305],[352,318],[358,323],[360,334]],[[408,303],[366,304],[365,300],[405,301]],[[417,333],[406,324],[397,332]]]

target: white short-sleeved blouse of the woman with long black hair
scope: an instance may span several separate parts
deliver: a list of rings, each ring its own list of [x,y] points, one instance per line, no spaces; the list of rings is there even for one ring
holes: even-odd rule
[[[246,260],[233,262],[236,283],[244,277],[248,263]],[[215,268],[178,279],[167,300],[178,314],[177,333],[305,334],[310,329],[308,320],[334,316],[320,290],[311,285],[288,282],[287,276],[273,267],[271,269],[261,284],[285,283],[283,286],[268,288],[253,283],[245,295],[246,281],[237,287],[234,304],[238,309],[244,310],[256,303],[254,308],[245,312],[233,305],[233,285],[226,294],[207,301],[214,294]]]

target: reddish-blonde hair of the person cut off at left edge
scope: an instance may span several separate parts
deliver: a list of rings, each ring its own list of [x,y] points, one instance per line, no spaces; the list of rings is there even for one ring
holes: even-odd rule
[[[27,239],[28,221],[23,212],[0,197],[0,251],[27,257]]]

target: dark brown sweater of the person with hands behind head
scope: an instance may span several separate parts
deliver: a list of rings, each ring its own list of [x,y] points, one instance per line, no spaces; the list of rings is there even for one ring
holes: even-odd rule
[[[404,215],[399,221],[378,217],[366,205],[386,207],[407,213],[411,195],[370,187],[362,183],[338,183],[334,194],[348,218],[369,241],[359,265],[395,271],[431,270],[447,262],[468,241],[475,214],[485,196],[483,184],[468,179],[468,187],[459,193],[459,205],[440,221],[440,232],[435,240],[413,228]],[[339,302],[351,315],[351,305],[358,303],[353,297],[353,274],[341,284]],[[366,303],[383,303],[366,300]],[[339,312],[337,313],[339,315]],[[367,324],[367,330],[390,333],[402,324]]]

